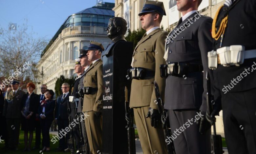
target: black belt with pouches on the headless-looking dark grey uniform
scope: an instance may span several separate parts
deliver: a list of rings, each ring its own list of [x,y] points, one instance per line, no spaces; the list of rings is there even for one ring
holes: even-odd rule
[[[166,78],[168,75],[183,77],[188,73],[202,72],[201,64],[193,64],[186,62],[169,63],[168,65],[160,65],[160,76]]]

